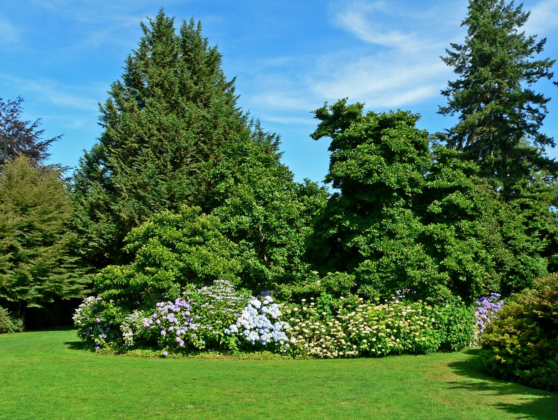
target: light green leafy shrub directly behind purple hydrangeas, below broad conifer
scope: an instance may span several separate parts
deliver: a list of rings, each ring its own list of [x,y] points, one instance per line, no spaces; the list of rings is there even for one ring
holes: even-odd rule
[[[201,214],[199,207],[155,214],[126,237],[132,263],[104,268],[95,277],[95,291],[129,314],[175,300],[190,283],[223,279],[238,284],[237,246],[219,228],[219,218]]]

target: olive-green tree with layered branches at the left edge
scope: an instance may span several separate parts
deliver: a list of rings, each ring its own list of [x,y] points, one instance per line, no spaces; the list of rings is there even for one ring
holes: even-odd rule
[[[0,170],[0,302],[14,318],[56,296],[83,296],[70,253],[71,203],[61,170],[18,157]]]

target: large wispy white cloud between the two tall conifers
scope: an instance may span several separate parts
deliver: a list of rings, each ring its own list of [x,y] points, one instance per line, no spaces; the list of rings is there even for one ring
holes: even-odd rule
[[[464,13],[463,5],[414,11],[382,1],[331,3],[331,25],[343,31],[340,36],[362,41],[360,46],[352,43],[305,60],[277,57],[260,62],[267,76],[258,79],[262,93],[250,99],[259,108],[267,107],[268,116],[280,114],[276,118],[282,120],[287,110],[307,113],[343,97],[377,110],[432,100],[451,79],[440,55],[449,41],[463,40],[459,23]],[[282,66],[287,62],[298,71],[285,80]]]

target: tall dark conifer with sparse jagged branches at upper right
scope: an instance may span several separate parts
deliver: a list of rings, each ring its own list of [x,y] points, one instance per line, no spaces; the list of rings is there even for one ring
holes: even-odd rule
[[[552,78],[555,60],[533,60],[546,38],[537,41],[536,35],[521,31],[530,14],[522,6],[506,0],[469,0],[461,23],[468,27],[465,43],[451,43],[454,51],[446,50],[448,55],[441,57],[459,75],[442,91],[448,105],[439,110],[459,118],[447,130],[448,146],[477,162],[479,175],[490,179],[506,199],[513,198],[519,180],[558,170],[543,149],[554,146],[554,140],[539,132],[550,97],[531,87]]]

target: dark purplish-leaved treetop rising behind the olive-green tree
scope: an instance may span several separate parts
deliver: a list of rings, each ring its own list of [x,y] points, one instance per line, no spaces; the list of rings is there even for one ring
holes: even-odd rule
[[[0,97],[0,165],[18,156],[26,156],[33,162],[41,163],[50,156],[50,144],[61,138],[42,139],[45,130],[39,130],[41,119],[23,121],[20,119],[23,99],[4,102]]]

